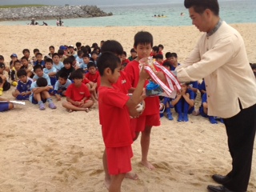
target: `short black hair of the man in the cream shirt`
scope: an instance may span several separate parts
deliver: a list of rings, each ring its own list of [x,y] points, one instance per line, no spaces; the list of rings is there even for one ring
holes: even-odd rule
[[[218,0],[185,0],[184,6],[186,9],[193,7],[194,11],[198,14],[202,14],[206,9],[211,10],[217,16],[219,13]]]

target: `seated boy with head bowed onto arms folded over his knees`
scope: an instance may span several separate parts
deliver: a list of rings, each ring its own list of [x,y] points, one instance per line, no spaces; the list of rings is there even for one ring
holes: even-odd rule
[[[53,89],[53,86],[48,86],[46,78],[38,78],[36,82],[32,82],[30,90],[30,102],[38,104],[39,110],[45,110],[45,102],[49,102],[50,109],[56,109],[53,100],[50,98],[49,90]]]

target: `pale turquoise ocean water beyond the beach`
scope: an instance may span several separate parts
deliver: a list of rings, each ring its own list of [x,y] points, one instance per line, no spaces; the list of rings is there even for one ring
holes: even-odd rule
[[[219,1],[220,17],[227,23],[256,22],[256,0]],[[114,15],[102,18],[62,19],[64,26],[190,26],[188,10],[180,3],[98,6]],[[183,13],[183,16],[181,16]],[[164,17],[154,17],[154,14]],[[56,20],[38,20],[56,26]],[[30,21],[0,22],[0,25],[26,25]]]

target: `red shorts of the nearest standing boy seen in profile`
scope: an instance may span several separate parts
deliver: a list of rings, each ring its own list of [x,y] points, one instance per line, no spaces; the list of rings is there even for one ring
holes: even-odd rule
[[[131,170],[130,158],[134,156],[131,146],[106,147],[109,174],[126,174]]]

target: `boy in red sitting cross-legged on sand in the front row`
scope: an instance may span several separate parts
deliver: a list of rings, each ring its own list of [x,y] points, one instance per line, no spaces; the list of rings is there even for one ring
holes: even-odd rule
[[[74,80],[66,90],[66,102],[62,102],[62,106],[69,112],[73,110],[89,111],[89,108],[94,105],[94,102],[90,100],[90,91],[88,87],[82,83],[83,73],[81,70],[75,70],[71,74],[71,78]]]

